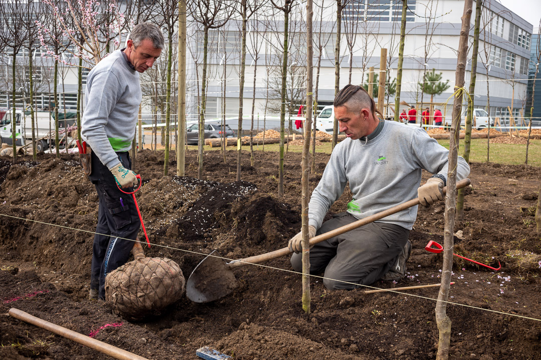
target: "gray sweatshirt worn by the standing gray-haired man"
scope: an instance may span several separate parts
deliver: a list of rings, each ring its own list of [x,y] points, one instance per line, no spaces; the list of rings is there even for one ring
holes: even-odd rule
[[[120,50],[88,73],[81,135],[108,169],[120,163],[115,152],[131,149],[140,104],[139,73]]]

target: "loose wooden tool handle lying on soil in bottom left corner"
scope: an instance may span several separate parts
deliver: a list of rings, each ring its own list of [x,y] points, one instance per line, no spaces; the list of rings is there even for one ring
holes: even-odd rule
[[[66,329],[64,327],[61,327],[60,325],[50,323],[39,317],[35,317],[28,313],[25,313],[24,311],[19,310],[19,309],[15,309],[15,308],[9,309],[9,315],[19,320],[25,321],[29,324],[36,325],[37,327],[54,332],[57,335],[63,336],[65,338],[68,338],[80,344],[83,344],[89,348],[101,351],[103,352],[103,354],[112,356],[115,359],[148,360],[147,358],[133,354],[133,352],[122,350],[120,348],[114,347],[113,345],[109,345],[99,340],[93,339],[89,336],[80,334],[76,331]]]

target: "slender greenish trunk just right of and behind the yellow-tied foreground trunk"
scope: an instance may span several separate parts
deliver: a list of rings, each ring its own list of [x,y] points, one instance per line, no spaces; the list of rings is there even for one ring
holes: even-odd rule
[[[468,97],[468,113],[466,118],[466,133],[464,135],[464,154],[463,158],[470,164],[470,147],[472,139],[472,121],[473,107],[475,100],[475,83],[477,79],[477,54],[479,52],[479,26],[481,23],[481,5],[482,0],[476,1],[475,9],[475,28],[473,30],[473,50],[472,50],[472,71],[470,79],[470,96]],[[490,123],[490,121],[489,121]],[[461,223],[464,220],[464,188],[458,190],[457,214],[455,221]]]

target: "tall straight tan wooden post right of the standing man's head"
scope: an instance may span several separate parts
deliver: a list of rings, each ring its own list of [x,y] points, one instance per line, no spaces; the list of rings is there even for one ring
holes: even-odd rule
[[[176,175],[184,176],[186,164],[186,0],[179,1],[179,112],[176,142]]]

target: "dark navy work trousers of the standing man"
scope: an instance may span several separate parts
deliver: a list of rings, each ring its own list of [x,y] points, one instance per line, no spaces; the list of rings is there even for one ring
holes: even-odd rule
[[[131,168],[128,152],[117,153],[122,166]],[[90,288],[99,289],[98,297],[105,298],[105,276],[128,261],[141,221],[132,195],[124,194],[107,167],[92,153],[92,173],[100,205],[98,225],[94,235]],[[133,188],[122,189],[132,192]]]

